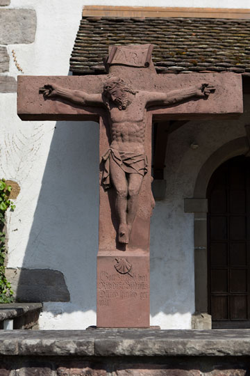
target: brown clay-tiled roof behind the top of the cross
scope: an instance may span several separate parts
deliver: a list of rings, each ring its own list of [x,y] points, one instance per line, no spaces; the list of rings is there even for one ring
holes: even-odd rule
[[[158,73],[250,75],[250,20],[160,17],[83,17],[74,43],[74,75],[106,73],[109,45],[152,43]]]

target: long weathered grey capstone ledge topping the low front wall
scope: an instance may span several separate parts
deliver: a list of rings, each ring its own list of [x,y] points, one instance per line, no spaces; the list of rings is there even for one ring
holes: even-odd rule
[[[0,356],[245,357],[250,329],[1,331]]]

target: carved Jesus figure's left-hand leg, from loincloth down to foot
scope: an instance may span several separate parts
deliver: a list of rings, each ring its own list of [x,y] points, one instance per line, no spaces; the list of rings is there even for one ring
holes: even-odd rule
[[[110,177],[117,191],[117,214],[119,218],[118,240],[120,243],[128,243],[128,226],[126,223],[128,182],[124,171],[110,158]]]

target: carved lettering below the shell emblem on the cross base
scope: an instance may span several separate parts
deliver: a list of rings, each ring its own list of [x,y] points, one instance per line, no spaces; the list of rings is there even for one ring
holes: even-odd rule
[[[116,299],[147,299],[149,281],[147,274],[118,274],[102,270],[98,286],[99,306],[109,306]]]

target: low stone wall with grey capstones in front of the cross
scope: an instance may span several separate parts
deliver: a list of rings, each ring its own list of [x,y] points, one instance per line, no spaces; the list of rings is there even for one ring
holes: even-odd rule
[[[0,331],[1,376],[248,376],[250,329]]]

